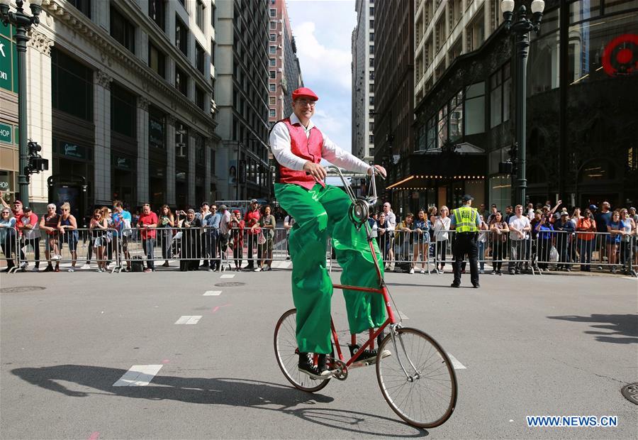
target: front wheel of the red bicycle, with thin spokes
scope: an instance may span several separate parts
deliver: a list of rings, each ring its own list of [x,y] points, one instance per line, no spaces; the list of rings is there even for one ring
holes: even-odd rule
[[[396,347],[390,334],[381,341],[376,360],[376,378],[384,398],[414,427],[443,424],[457,404],[452,362],[437,341],[420,330],[398,329],[395,339]]]

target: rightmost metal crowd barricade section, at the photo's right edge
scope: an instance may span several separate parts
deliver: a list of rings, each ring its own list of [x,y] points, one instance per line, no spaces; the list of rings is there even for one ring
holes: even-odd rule
[[[538,260],[541,270],[571,270],[580,266],[616,272],[620,269],[634,275],[637,237],[602,232],[541,231],[537,235]]]

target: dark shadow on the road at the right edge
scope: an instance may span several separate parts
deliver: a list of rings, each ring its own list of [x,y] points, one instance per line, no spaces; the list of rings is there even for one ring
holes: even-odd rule
[[[591,327],[609,331],[585,331],[584,333],[597,335],[596,341],[600,342],[638,343],[638,314],[592,314],[591,317],[567,315],[548,318],[575,322],[598,322],[601,324]]]

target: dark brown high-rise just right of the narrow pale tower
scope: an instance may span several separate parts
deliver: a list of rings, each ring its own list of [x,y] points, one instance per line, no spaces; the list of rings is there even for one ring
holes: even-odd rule
[[[410,167],[414,143],[414,3],[377,1],[370,21],[375,28],[374,162],[388,170],[384,197],[399,209],[401,194],[392,189]]]

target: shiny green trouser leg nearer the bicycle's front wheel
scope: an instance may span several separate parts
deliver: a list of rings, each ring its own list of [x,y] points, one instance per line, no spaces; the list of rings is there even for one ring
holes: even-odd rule
[[[344,285],[379,288],[379,275],[376,273],[374,259],[370,252],[365,226],[359,231],[348,216],[352,203],[337,187],[326,187],[320,192],[320,202],[328,212],[332,246],[343,271],[341,282]],[[381,253],[376,240],[372,241],[377,261],[381,262]],[[381,275],[384,270],[381,266]],[[379,293],[345,290],[344,298],[348,312],[350,333],[356,334],[372,327],[378,327],[386,320],[384,298]]]

